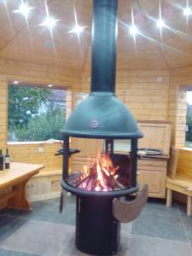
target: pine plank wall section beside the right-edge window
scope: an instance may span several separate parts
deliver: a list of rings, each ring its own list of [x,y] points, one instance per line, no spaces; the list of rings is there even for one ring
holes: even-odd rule
[[[186,91],[192,85],[192,66],[170,71],[169,119],[172,124],[172,145],[184,147],[186,124]]]

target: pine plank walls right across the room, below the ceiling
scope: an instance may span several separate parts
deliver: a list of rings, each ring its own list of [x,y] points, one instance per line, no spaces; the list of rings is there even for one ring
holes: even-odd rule
[[[74,107],[73,99],[76,93],[90,91],[90,72],[87,70],[77,73],[61,68],[0,60],[0,148],[3,150],[7,147],[7,84],[9,80],[65,86],[69,88],[67,90],[68,109]],[[179,87],[179,85],[192,84],[192,67],[172,69],[171,80],[168,70],[119,70],[116,80],[117,95],[131,109],[131,113],[137,119],[170,120],[172,144],[183,146],[183,115],[186,106],[184,87]],[[28,149],[26,149],[27,147]],[[17,146],[17,152],[15,152],[15,146],[9,148],[14,160],[23,162],[34,162],[35,160],[39,163],[38,145],[20,145],[19,148]],[[42,160],[48,163],[49,157],[53,157],[57,148],[60,148],[60,144],[57,144],[56,148],[53,145],[52,149],[50,145],[44,144]],[[28,157],[27,154],[24,154],[25,151],[29,153]]]

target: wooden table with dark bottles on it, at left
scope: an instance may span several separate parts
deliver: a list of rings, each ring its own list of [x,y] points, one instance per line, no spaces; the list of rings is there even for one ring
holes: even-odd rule
[[[9,207],[30,211],[30,203],[26,200],[26,183],[30,177],[44,168],[43,165],[10,163],[9,170],[0,171],[0,209]]]

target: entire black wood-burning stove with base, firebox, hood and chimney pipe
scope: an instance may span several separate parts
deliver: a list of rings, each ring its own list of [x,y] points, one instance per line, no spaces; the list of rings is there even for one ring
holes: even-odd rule
[[[137,194],[139,187],[137,139],[143,137],[143,133],[139,131],[129,109],[115,96],[117,5],[117,0],[93,1],[91,92],[73,111],[61,131],[64,137],[61,187],[77,195],[76,247],[84,253],[96,255],[117,253],[121,213],[122,221],[126,221],[126,211],[129,211],[130,206],[129,202],[121,202],[119,198]],[[94,176],[95,183],[91,181],[90,185],[89,180],[84,182],[84,186],[77,185],[82,177],[68,174],[68,159],[71,154],[69,137],[102,139],[105,144],[102,154],[108,155],[119,172],[111,174],[97,162],[99,171],[91,169],[87,176]],[[124,155],[116,154],[113,149],[114,140],[119,139],[129,140],[131,143],[131,149]],[[102,181],[101,168],[106,176]],[[110,188],[108,178],[113,183]],[[97,183],[99,179],[100,183]],[[145,189],[143,200],[140,199],[140,204],[136,204],[136,210],[134,203],[131,204],[131,216],[141,211],[146,200]],[[118,212],[119,204],[122,212]]]

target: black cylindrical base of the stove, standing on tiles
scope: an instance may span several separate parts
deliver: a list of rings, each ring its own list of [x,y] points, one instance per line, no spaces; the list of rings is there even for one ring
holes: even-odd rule
[[[113,198],[77,196],[76,247],[93,255],[114,255],[120,223],[113,218]]]

